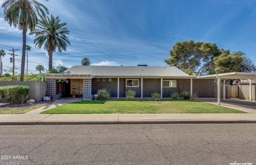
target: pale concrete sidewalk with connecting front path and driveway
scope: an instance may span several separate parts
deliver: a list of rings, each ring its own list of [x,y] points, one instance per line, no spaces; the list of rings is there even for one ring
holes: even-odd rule
[[[244,100],[226,100],[220,106],[243,110],[249,112],[248,114],[39,114],[44,110],[80,100],[82,98],[65,98],[25,114],[0,114],[0,125],[256,123],[256,102]],[[199,98],[198,101],[217,104],[215,98]]]

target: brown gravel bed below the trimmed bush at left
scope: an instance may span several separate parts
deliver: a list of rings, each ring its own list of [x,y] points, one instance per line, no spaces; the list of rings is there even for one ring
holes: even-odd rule
[[[4,103],[3,101],[0,101],[0,110],[10,110],[12,108],[16,108],[16,110],[22,110],[24,108],[28,108],[31,106],[47,106],[52,104],[54,101],[40,101],[40,102],[34,102],[34,103],[23,103],[23,104],[10,104],[10,103]]]

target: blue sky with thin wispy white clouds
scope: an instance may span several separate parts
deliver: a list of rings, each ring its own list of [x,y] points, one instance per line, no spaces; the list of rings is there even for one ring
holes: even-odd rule
[[[0,0],[2,4],[4,0]],[[67,51],[53,54],[53,65],[168,66],[169,51],[187,40],[216,43],[219,48],[246,53],[256,64],[255,0],[38,0],[50,14],[59,16],[70,30]],[[61,2],[61,3],[60,3]],[[27,36],[28,73],[38,64],[48,69],[48,55]],[[15,65],[20,68],[22,31],[4,21],[0,8],[0,49],[19,49]],[[10,55],[3,68],[12,67]],[[26,71],[26,68],[25,68]],[[20,73],[20,69],[16,69]]]

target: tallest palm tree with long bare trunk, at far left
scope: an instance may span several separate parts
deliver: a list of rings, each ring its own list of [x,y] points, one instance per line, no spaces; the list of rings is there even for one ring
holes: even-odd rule
[[[4,20],[7,21],[10,26],[13,25],[15,28],[18,27],[18,29],[22,30],[23,43],[20,81],[23,81],[27,30],[30,29],[30,31],[33,31],[38,22],[37,15],[41,14],[45,16],[45,12],[48,14],[48,9],[36,0],[6,0],[2,4],[2,8],[4,9]]]

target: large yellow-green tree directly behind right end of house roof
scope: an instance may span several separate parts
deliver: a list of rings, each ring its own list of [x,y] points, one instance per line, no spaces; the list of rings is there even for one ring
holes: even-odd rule
[[[188,75],[204,75],[214,71],[213,58],[219,53],[215,43],[183,41],[173,46],[171,58],[165,62]]]

